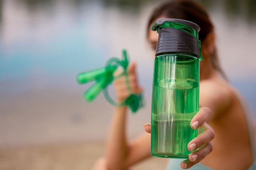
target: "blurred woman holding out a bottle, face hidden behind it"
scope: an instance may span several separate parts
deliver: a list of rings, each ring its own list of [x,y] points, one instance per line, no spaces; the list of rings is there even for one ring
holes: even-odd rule
[[[245,103],[236,90],[228,83],[225,74],[220,68],[216,54],[216,42],[214,28],[205,9],[190,0],[175,0],[162,4],[155,9],[148,22],[147,39],[156,49],[158,34],[150,30],[150,26],[158,18],[177,18],[189,20],[198,24],[201,28],[199,40],[202,44],[202,56],[200,62],[200,107],[198,114],[191,121],[191,127],[202,126],[206,131],[193,139],[188,149],[193,151],[204,144],[203,148],[189,155],[189,160],[181,162],[180,159],[170,159],[168,169],[178,170],[192,168],[195,170],[223,169],[223,170],[253,170],[256,169],[253,128],[248,121],[248,113]],[[134,93],[140,93],[141,88],[137,84],[135,64],[130,66],[130,86]],[[117,97],[120,101],[126,99],[124,79],[115,82]],[[211,110],[211,116],[209,110]],[[126,107],[116,108],[110,134],[108,136],[106,158],[101,160],[101,167],[106,170],[126,169],[130,165],[150,156],[150,137],[142,135],[128,144],[125,137]],[[197,121],[196,121],[197,120]],[[215,138],[211,128],[215,132]],[[150,130],[150,125],[145,126]],[[200,138],[200,137],[203,137]],[[211,144],[213,150],[211,152]],[[210,153],[211,152],[211,153]],[[209,154],[209,155],[208,155]],[[206,157],[207,155],[207,157]],[[198,163],[200,161],[200,163]],[[198,164],[196,164],[198,163]],[[195,165],[196,164],[196,165]],[[99,165],[99,164],[98,164]],[[195,165],[195,166],[194,166]]]

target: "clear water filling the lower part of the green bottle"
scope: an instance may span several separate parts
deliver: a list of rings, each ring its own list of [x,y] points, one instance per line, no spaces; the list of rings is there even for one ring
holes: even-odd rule
[[[198,83],[193,79],[162,79],[154,83],[151,154],[186,158],[189,141],[197,136],[190,121],[198,112]]]

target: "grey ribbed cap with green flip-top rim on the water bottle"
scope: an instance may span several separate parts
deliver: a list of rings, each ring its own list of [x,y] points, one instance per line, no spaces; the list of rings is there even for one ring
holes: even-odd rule
[[[175,18],[159,18],[151,29],[159,34],[155,55],[166,53],[189,53],[202,60],[200,27],[190,21]]]

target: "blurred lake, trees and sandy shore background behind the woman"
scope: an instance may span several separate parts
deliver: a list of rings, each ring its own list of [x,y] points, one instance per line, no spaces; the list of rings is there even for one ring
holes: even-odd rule
[[[146,106],[129,114],[128,137],[150,122],[153,53],[146,24],[164,0],[0,0],[0,170],[87,170],[104,153],[113,107],[76,75],[127,49]],[[221,65],[256,123],[256,1],[197,0],[217,34]],[[164,167],[150,159],[136,169]],[[150,164],[151,163],[151,164]],[[150,165],[150,166],[149,166]]]

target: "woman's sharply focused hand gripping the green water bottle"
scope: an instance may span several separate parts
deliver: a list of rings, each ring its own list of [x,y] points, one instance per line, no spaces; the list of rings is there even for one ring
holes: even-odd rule
[[[181,168],[191,168],[193,165],[195,165],[196,163],[204,159],[204,157],[209,155],[209,153],[211,153],[213,147],[210,141],[214,138],[215,133],[213,129],[206,123],[210,115],[211,110],[207,107],[202,107],[191,120],[191,128],[194,130],[200,128],[200,130],[202,129],[202,132],[198,135],[198,137],[195,137],[192,141],[190,141],[187,147],[188,150],[191,152],[198,148],[200,149],[191,153],[189,155],[189,159],[183,161],[180,164]],[[144,130],[150,133],[151,125],[145,124]]]

